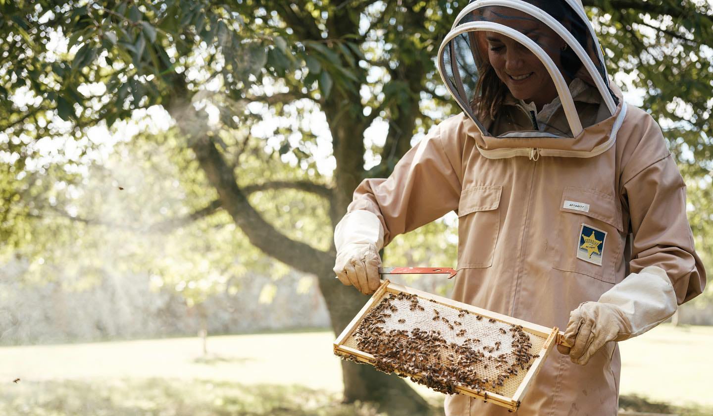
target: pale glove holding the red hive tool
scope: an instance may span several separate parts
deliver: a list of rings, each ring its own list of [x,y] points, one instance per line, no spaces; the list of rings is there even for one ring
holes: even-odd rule
[[[364,295],[374,293],[381,285],[379,250],[383,243],[384,230],[374,213],[354,210],[344,215],[334,230],[334,273],[339,281],[353,285]]]

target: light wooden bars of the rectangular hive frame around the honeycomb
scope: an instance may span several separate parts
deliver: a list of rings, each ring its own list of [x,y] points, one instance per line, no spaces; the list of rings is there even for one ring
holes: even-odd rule
[[[518,386],[517,390],[515,390],[515,394],[513,395],[513,397],[506,397],[487,391],[476,392],[476,390],[472,390],[468,387],[456,387],[456,391],[463,395],[476,397],[480,400],[495,403],[496,405],[500,405],[502,407],[508,408],[509,410],[515,411],[518,410],[518,407],[520,406],[520,401],[523,399],[525,393],[528,391],[528,387],[531,385],[533,379],[535,378],[535,375],[537,375],[540,371],[540,368],[542,368],[543,362],[545,362],[545,358],[547,358],[548,354],[550,353],[550,350],[552,350],[553,347],[557,345],[557,343],[563,343],[563,334],[560,333],[558,328],[556,327],[548,328],[542,325],[527,322],[525,320],[512,318],[508,315],[491,312],[490,310],[478,308],[476,306],[461,303],[456,300],[443,298],[442,296],[433,295],[422,290],[408,288],[406,286],[398,285],[396,283],[391,283],[391,281],[389,280],[382,280],[381,282],[381,286],[379,286],[379,289],[376,290],[374,295],[371,295],[371,298],[369,299],[369,301],[366,302],[364,308],[361,308],[359,313],[357,313],[354,319],[352,319],[352,322],[347,325],[347,328],[344,328],[339,337],[334,340],[334,354],[352,357],[354,360],[359,360],[368,364],[374,363],[374,355],[369,354],[369,352],[364,352],[356,350],[352,347],[347,347],[346,345],[344,345],[344,341],[346,341],[347,338],[349,338],[352,333],[354,333],[354,330],[359,327],[359,323],[361,323],[361,320],[364,318],[369,309],[374,305],[374,303],[379,301],[381,299],[381,296],[385,293],[397,294],[400,292],[404,292],[412,295],[415,294],[418,295],[421,299],[434,300],[441,305],[447,306],[448,308],[455,308],[458,310],[465,309],[471,313],[482,315],[484,318],[493,318],[503,323],[521,325],[523,327],[523,331],[533,335],[537,335],[541,338],[545,338],[545,343],[543,344],[542,350],[536,352],[536,354],[540,356],[535,358],[532,365],[530,366],[530,369],[527,373],[525,373],[525,377],[520,382],[520,385]],[[406,377],[420,378],[419,375],[402,375]]]

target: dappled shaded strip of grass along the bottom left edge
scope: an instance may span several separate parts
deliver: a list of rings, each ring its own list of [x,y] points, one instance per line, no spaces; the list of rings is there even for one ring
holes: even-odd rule
[[[26,382],[0,392],[0,414],[12,416],[370,416],[368,404],[295,385],[164,379]]]

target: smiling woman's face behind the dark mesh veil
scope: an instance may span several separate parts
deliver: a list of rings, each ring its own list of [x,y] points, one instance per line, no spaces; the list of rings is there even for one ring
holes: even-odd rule
[[[555,31],[520,11],[508,9],[503,14],[495,11],[490,11],[489,14],[491,19],[488,20],[509,26],[524,34],[538,44],[558,68],[561,67],[559,51],[564,41]],[[485,37],[488,60],[498,78],[506,84],[515,98],[526,103],[534,101],[540,109],[557,97],[552,76],[530,49],[497,32],[486,31]],[[565,81],[570,80],[565,79]]]

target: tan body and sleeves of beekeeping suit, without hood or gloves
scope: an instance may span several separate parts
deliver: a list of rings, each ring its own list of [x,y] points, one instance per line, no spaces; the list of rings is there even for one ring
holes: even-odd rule
[[[622,104],[574,139],[484,137],[461,113],[433,128],[388,179],[363,181],[349,211],[375,213],[388,244],[455,210],[453,299],[540,325],[565,328],[580,303],[649,265],[666,271],[684,303],[705,285],[684,182],[653,118],[632,106],[617,121],[620,113]],[[605,233],[597,261],[582,258],[583,229]],[[619,375],[615,343],[585,366],[553,352],[518,414],[615,415]],[[446,415],[508,412],[453,395]]]

